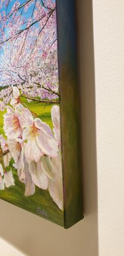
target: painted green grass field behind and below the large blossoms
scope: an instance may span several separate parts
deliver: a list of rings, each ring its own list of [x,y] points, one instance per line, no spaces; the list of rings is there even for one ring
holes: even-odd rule
[[[21,100],[28,105],[28,108],[34,112],[37,117],[41,118],[42,121],[50,125],[50,128],[53,128],[50,114],[52,104],[45,105],[44,103],[37,103],[33,101],[28,102],[23,98],[21,98]],[[0,134],[3,135],[4,130],[2,127],[4,113],[5,112],[0,112]],[[25,185],[18,180],[17,172],[14,168],[12,168],[12,171],[14,174],[15,186],[10,186],[10,188],[0,191],[0,198],[63,226],[64,213],[58,208],[55,202],[53,202],[48,191],[43,191],[42,189],[36,187],[36,192],[33,196],[25,197]]]

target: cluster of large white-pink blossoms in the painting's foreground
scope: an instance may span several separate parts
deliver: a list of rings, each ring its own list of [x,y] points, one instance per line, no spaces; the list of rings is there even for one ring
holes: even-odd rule
[[[25,196],[31,196],[36,186],[48,190],[53,201],[63,210],[63,178],[61,167],[60,108],[53,105],[53,131],[47,123],[34,117],[20,103],[20,91],[14,86],[10,105],[4,114],[4,133],[0,136],[0,189],[14,186],[11,170],[17,170],[25,184]],[[9,168],[6,168],[9,167]]]

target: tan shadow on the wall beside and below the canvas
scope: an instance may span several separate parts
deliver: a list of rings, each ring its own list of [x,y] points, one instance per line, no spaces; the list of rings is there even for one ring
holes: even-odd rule
[[[92,1],[78,0],[77,2],[85,218],[72,228],[64,230],[60,226],[0,200],[0,236],[17,247],[24,255],[29,256],[98,256]]]

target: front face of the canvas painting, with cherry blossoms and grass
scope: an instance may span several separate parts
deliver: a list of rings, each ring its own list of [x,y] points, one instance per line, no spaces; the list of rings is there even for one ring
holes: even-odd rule
[[[62,224],[56,4],[0,8],[0,197]]]

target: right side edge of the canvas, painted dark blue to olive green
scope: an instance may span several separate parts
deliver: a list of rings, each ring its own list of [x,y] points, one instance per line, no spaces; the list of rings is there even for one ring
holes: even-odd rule
[[[83,218],[75,1],[57,0],[64,228]]]

